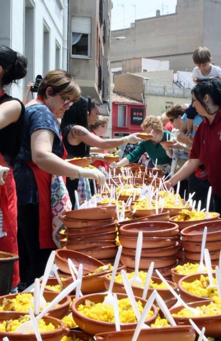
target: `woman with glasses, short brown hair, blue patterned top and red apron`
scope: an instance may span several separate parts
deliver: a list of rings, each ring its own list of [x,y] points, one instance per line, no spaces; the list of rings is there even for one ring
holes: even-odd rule
[[[52,174],[105,182],[99,170],[85,170],[65,161],[58,121],[79,97],[80,88],[73,78],[66,71],[54,70],[42,79],[37,97],[26,106],[23,141],[14,167],[21,279],[26,286],[43,274],[56,247],[51,205],[57,200],[62,209],[68,200],[57,192],[52,201]]]

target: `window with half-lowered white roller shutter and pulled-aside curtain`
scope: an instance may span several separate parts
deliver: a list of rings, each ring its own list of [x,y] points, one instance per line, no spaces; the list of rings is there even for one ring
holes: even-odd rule
[[[91,18],[72,17],[71,19],[71,55],[91,57]]]

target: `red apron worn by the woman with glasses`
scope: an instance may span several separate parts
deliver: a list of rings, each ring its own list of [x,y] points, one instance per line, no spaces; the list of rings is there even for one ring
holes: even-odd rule
[[[63,145],[62,159],[67,158],[67,151]],[[52,239],[51,216],[51,174],[40,170],[34,162],[27,162],[34,172],[39,197],[39,243],[42,248],[56,248]],[[66,177],[63,178],[66,183]]]

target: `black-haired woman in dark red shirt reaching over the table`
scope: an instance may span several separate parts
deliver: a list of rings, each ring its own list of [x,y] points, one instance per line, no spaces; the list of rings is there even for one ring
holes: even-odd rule
[[[193,107],[204,116],[193,140],[190,159],[167,181],[170,188],[204,164],[214,194],[214,209],[221,213],[221,82],[198,83],[192,89]]]

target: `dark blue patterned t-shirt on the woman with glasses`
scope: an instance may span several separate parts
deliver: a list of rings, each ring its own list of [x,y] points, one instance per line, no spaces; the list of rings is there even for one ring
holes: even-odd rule
[[[64,153],[60,129],[48,107],[44,104],[34,104],[27,107],[24,136],[14,165],[18,205],[35,204],[38,202],[38,191],[34,173],[25,162],[32,161],[31,135],[40,129],[47,129],[55,134],[52,153],[59,157],[62,157]]]

